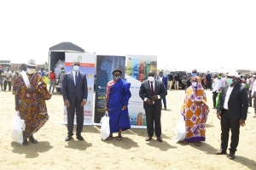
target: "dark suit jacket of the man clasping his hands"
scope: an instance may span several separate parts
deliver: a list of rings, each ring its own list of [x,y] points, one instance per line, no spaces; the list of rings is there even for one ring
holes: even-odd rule
[[[161,111],[162,109],[162,102],[161,99],[165,98],[167,95],[167,90],[163,82],[160,80],[154,80],[154,94],[155,95],[160,95],[160,99],[157,99],[154,101],[154,105],[156,107],[157,111]],[[148,80],[145,80],[142,82],[140,91],[139,91],[140,97],[143,99],[148,98],[151,99],[152,92],[150,88],[150,82]],[[151,111],[153,105],[148,105],[147,102],[143,102],[143,107],[146,111]]]

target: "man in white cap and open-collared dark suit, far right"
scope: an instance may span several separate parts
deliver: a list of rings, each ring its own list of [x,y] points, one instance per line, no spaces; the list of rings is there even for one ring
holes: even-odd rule
[[[238,73],[229,72],[227,85],[222,88],[221,98],[217,108],[217,116],[221,124],[221,148],[215,154],[226,153],[231,129],[229,159],[235,158],[239,141],[239,129],[245,126],[248,110],[247,89],[237,82]]]

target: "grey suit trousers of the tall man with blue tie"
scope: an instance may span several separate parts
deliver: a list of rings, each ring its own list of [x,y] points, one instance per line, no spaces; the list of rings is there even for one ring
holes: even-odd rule
[[[76,99],[75,105],[70,105],[70,107],[67,107],[67,132],[68,132],[68,136],[73,135],[73,119],[74,119],[74,112],[75,111],[76,111],[76,115],[77,115],[77,133],[76,134],[80,135],[81,132],[83,131],[84,107],[81,107],[81,102],[79,102],[78,99]]]

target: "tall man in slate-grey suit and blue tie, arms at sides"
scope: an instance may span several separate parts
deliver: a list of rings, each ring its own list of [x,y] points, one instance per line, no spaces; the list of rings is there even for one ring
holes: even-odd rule
[[[77,139],[84,140],[81,136],[84,125],[84,105],[88,95],[87,80],[83,72],[79,71],[79,60],[73,61],[73,71],[67,72],[62,82],[62,94],[67,105],[67,131],[65,141],[73,136],[74,113],[77,115]]]

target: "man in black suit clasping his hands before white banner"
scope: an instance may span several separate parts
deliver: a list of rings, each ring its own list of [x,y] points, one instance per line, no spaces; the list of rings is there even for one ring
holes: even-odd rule
[[[146,112],[148,137],[145,140],[149,141],[152,139],[155,128],[157,140],[162,142],[160,122],[162,109],[161,99],[166,97],[167,91],[164,83],[159,80],[154,80],[154,77],[154,71],[149,71],[148,80],[142,82],[139,95],[144,101],[143,107]]]

